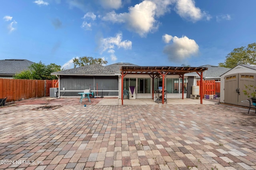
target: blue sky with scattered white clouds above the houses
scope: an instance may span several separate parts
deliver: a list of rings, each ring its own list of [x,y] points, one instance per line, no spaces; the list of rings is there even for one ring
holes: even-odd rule
[[[218,65],[256,42],[255,0],[4,0],[0,59],[73,68],[108,64]]]

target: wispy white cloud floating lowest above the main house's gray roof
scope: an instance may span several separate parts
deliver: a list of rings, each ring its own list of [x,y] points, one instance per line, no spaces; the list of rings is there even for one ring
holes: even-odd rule
[[[132,42],[129,40],[122,41],[122,33],[116,35],[116,37],[109,37],[109,38],[102,38],[100,40],[101,46],[101,53],[108,50],[114,49],[115,47],[124,48],[124,49],[131,49]]]

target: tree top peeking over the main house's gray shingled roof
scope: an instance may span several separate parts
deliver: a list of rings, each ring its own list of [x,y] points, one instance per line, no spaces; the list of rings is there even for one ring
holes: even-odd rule
[[[78,67],[82,67],[85,65],[90,65],[90,64],[106,64],[108,63],[108,61],[102,59],[102,58],[93,58],[93,57],[79,57],[79,58],[75,58],[73,59],[73,63],[74,63],[74,68]]]

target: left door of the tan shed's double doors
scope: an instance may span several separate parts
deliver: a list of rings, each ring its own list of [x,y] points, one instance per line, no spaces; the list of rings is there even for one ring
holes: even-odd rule
[[[225,76],[225,103],[238,104],[238,74]]]

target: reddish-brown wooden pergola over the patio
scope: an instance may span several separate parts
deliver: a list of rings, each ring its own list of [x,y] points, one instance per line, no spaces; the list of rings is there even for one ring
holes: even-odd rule
[[[164,77],[166,75],[179,75],[182,78],[182,87],[184,87],[184,74],[196,72],[200,76],[200,103],[203,104],[203,90],[202,90],[202,80],[203,72],[206,71],[208,67],[172,67],[172,66],[122,66],[122,87],[121,87],[121,99],[123,102],[123,89],[124,89],[124,76],[126,74],[147,74],[153,79],[152,94],[154,99],[154,78],[156,76],[162,76],[162,96],[164,96]],[[182,88],[182,99],[184,99],[184,88]],[[162,104],[164,104],[164,97],[162,97]]]

